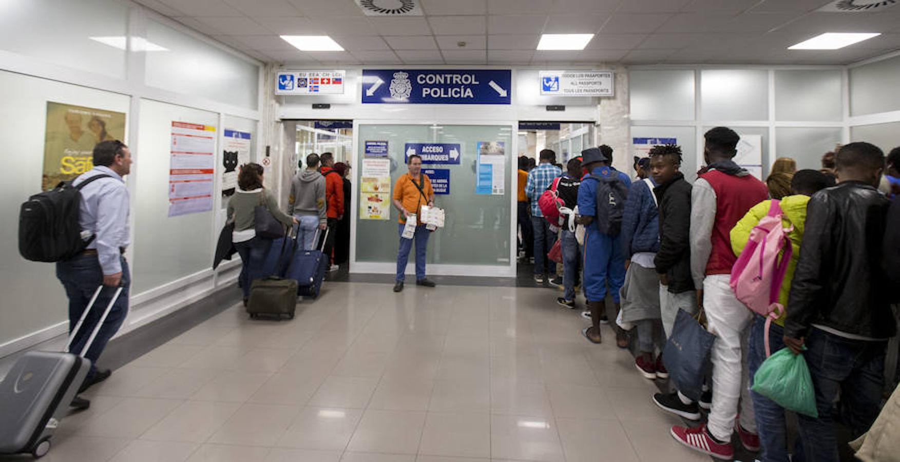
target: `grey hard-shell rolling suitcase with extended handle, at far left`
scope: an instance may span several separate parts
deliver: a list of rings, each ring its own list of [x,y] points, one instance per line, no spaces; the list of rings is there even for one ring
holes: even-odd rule
[[[94,302],[103,290],[101,285],[94,293],[91,303],[81,314],[81,319],[69,335],[66,350],[72,345],[75,334],[85,322],[87,313],[94,308]],[[66,352],[29,351],[19,358],[3,382],[0,382],[0,454],[31,453],[43,457],[50,449],[50,438],[56,431],[59,420],[67,411],[78,388],[85,381],[91,368],[90,359],[85,358],[87,349],[94,343],[100,326],[118,300],[121,287],[116,289],[112,300],[85,342],[85,348],[77,355]]]

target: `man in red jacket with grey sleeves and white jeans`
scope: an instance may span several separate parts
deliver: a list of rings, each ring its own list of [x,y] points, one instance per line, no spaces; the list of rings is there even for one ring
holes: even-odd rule
[[[716,127],[707,131],[704,138],[707,167],[700,171],[691,189],[690,269],[698,288],[698,303],[707,314],[707,330],[716,334],[710,352],[712,406],[707,424],[693,429],[675,426],[671,434],[689,448],[713,457],[731,458],[735,430],[744,448],[760,448],[747,389],[747,355],[743,345],[752,312],[734,296],[729,285],[737,261],[731,247],[731,230],[753,205],[769,197],[769,191],[764,183],[734,163],[741,140],[736,132]],[[741,413],[737,421],[739,400]]]

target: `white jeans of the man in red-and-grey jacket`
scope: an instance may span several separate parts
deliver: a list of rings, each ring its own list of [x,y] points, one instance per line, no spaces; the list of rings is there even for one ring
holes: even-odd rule
[[[713,408],[707,427],[716,439],[730,441],[741,403],[741,426],[756,432],[753,402],[747,386],[747,337],[753,315],[734,296],[730,275],[710,275],[703,281],[703,307],[708,331],[716,334],[713,361]]]

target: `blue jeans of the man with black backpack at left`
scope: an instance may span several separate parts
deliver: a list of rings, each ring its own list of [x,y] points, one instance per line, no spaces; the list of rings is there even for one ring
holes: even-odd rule
[[[81,318],[81,314],[85,313],[87,303],[90,303],[97,287],[103,284],[103,269],[100,267],[100,260],[96,255],[82,254],[75,258],[58,262],[57,278],[66,289],[68,297],[68,331],[71,333],[72,329],[75,328],[75,324]],[[121,258],[121,285],[122,290],[119,299],[112,305],[112,310],[106,316],[106,320],[103,321],[103,326],[100,327],[100,331],[97,331],[94,343],[91,344],[91,348],[87,349],[87,353],[85,353],[85,358],[91,360],[91,370],[87,373],[85,380],[94,376],[97,359],[100,358],[103,349],[106,348],[106,343],[119,331],[121,323],[125,321],[125,316],[128,315],[128,293],[131,285],[131,273],[128,268],[128,262],[125,261],[124,257]],[[110,303],[112,294],[115,294],[114,288],[103,288],[103,291],[101,291],[94,303],[93,309],[87,314],[85,323],[82,324],[81,329],[76,333],[75,341],[72,342],[69,352],[78,354],[81,352],[81,349],[85,348],[85,343],[90,338],[97,322],[100,322],[100,316],[103,315],[106,305]]]

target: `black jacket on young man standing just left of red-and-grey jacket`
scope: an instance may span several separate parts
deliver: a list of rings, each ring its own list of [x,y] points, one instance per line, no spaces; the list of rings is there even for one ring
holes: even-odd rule
[[[690,276],[690,190],[681,173],[653,188],[660,204],[660,249],[653,265],[657,273],[668,276],[672,294],[694,290],[694,278]]]

